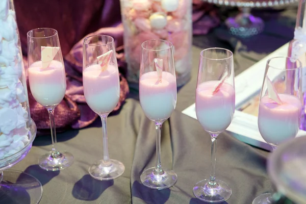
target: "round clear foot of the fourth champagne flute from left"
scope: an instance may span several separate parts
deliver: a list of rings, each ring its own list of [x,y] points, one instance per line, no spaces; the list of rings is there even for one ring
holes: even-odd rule
[[[232,195],[232,189],[222,181],[216,180],[216,188],[209,188],[209,180],[202,180],[193,187],[194,196],[202,201],[210,203],[219,203],[227,200]]]

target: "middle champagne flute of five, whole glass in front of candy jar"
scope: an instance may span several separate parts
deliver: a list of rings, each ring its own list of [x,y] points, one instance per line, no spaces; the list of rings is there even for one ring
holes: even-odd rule
[[[176,80],[172,43],[166,40],[148,40],[141,45],[139,99],[144,114],[155,122],[156,166],[140,175],[143,185],[165,189],[176,183],[172,170],[161,165],[161,129],[176,106]]]

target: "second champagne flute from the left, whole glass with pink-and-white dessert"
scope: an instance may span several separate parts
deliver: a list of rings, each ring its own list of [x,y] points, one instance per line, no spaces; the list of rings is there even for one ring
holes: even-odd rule
[[[104,64],[101,65],[101,59]],[[103,130],[103,160],[89,168],[97,180],[116,179],[124,172],[124,165],[109,158],[107,116],[117,106],[120,81],[114,39],[107,35],[94,35],[83,42],[83,86],[88,106],[100,116]]]

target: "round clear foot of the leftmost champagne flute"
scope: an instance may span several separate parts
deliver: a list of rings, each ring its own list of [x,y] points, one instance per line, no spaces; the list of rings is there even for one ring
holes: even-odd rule
[[[55,156],[52,156],[55,155]],[[55,154],[50,151],[48,154],[41,156],[38,160],[40,168],[46,171],[59,171],[72,165],[73,156],[69,152],[58,152]]]

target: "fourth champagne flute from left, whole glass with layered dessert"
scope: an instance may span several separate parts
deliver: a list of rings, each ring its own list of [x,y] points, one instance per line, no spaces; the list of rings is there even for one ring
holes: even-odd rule
[[[216,180],[216,140],[231,124],[235,112],[233,53],[223,48],[201,52],[195,100],[196,116],[212,140],[210,179],[193,187],[193,194],[202,201],[217,203],[227,200],[232,189]]]

